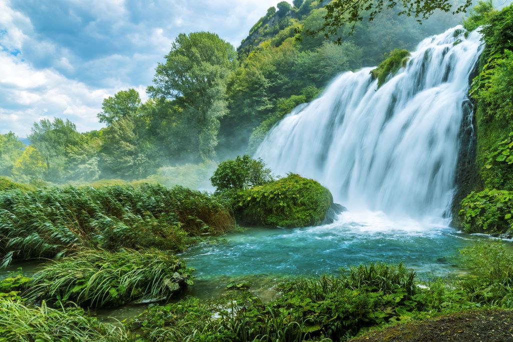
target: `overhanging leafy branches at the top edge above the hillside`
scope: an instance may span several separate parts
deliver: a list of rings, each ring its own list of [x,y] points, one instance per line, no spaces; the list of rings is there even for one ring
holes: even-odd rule
[[[323,26],[325,36],[337,34],[345,25],[350,27],[349,34],[352,34],[357,23],[362,22],[365,17],[372,22],[386,8],[394,8],[397,4],[393,0],[333,0],[325,7],[327,9]],[[421,22],[436,10],[452,12],[452,14],[465,12],[472,2],[466,0],[463,4],[456,6],[449,0],[403,0],[400,4],[402,9],[398,15],[413,16],[417,18],[418,22]],[[338,42],[341,41],[342,38],[339,38]]]

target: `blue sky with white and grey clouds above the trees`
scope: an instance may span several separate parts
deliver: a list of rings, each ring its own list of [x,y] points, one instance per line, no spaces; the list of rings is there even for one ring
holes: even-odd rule
[[[210,31],[237,47],[280,0],[0,0],[0,134],[41,119],[102,127],[102,101],[135,88],[181,33]]]

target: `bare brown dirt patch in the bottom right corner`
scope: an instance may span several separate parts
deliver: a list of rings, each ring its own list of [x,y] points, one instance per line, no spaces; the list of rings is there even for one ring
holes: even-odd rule
[[[513,311],[477,310],[371,332],[351,342],[513,342]]]

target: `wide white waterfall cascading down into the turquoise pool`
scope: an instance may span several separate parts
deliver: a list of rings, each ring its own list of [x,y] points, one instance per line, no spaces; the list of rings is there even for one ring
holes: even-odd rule
[[[423,40],[379,89],[373,68],[345,72],[273,127],[255,157],[319,181],[350,211],[440,220],[481,50],[480,34],[457,26]]]

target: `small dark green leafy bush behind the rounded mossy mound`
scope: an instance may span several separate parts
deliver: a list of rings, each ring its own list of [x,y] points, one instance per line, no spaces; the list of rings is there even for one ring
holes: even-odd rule
[[[233,160],[219,163],[213,176],[210,177],[216,193],[226,190],[244,190],[271,181],[273,181],[271,169],[265,167],[264,161],[252,159],[248,155],[237,156]]]

